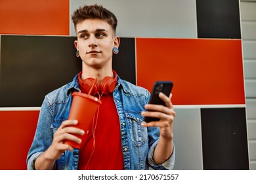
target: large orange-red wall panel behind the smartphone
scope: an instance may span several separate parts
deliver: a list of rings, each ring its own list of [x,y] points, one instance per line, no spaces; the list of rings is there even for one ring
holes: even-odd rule
[[[136,39],[137,84],[172,80],[174,105],[245,104],[241,40]]]

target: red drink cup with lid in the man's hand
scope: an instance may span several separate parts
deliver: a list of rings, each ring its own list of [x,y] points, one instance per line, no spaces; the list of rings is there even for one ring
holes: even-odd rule
[[[93,122],[93,116],[98,109],[98,106],[101,104],[100,99],[93,97],[92,95],[87,95],[85,93],[74,92],[72,94],[73,101],[70,108],[70,114],[68,116],[68,120],[77,120],[78,124],[73,125],[79,129],[83,129],[85,134]],[[72,134],[78,137],[79,139],[83,139],[83,135]],[[65,144],[69,144],[73,148],[80,148],[81,144],[66,140]]]

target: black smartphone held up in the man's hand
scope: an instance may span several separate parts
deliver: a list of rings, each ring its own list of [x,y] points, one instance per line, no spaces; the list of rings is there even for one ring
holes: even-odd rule
[[[159,93],[162,92],[163,94],[167,95],[169,97],[171,90],[173,88],[173,82],[171,81],[157,81],[155,82],[153,86],[153,90],[150,95],[150,101],[148,103],[150,104],[156,104],[156,105],[164,105],[164,101],[162,101],[159,97]],[[145,122],[152,122],[152,121],[159,121],[159,118],[152,118],[152,117],[145,117]]]

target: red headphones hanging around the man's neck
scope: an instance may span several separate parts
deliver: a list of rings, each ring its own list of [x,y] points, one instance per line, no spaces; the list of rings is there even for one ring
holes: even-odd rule
[[[91,91],[91,95],[96,95],[96,93],[104,93],[105,95],[108,95],[108,93],[112,93],[116,88],[116,82],[117,82],[117,75],[116,71],[112,70],[114,74],[114,78],[110,76],[106,76],[103,78],[102,82],[98,84],[98,82],[95,83],[95,86],[93,87]],[[95,82],[95,78],[86,78],[85,80],[82,80],[81,78],[82,71],[78,74],[78,81],[79,81],[79,88],[82,93],[89,93],[91,90],[91,87],[93,86],[93,82]]]

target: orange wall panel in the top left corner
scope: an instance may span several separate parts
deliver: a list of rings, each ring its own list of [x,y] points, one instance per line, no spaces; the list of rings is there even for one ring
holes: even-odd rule
[[[69,0],[1,0],[0,34],[70,35]]]

